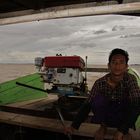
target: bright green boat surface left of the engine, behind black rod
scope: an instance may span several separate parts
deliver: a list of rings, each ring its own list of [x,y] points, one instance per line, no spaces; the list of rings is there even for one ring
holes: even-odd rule
[[[43,89],[40,75],[31,74],[0,84],[0,105],[6,105],[15,102],[39,99],[47,96],[47,93],[19,86],[16,82],[21,82],[30,86]]]

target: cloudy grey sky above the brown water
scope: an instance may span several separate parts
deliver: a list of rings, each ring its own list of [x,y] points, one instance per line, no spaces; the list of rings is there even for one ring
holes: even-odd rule
[[[0,26],[0,63],[34,63],[35,57],[88,56],[88,64],[107,64],[114,48],[140,64],[140,17],[100,15]]]

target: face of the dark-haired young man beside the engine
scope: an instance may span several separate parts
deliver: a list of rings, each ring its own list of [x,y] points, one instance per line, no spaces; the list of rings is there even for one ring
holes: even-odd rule
[[[108,67],[113,75],[115,76],[123,75],[128,68],[125,56],[121,54],[114,55],[111,59],[111,62],[108,64]]]

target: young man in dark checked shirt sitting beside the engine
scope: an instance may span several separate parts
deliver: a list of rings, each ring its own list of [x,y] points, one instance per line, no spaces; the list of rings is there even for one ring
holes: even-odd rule
[[[104,140],[107,127],[117,128],[113,140],[131,140],[129,128],[135,129],[140,114],[140,88],[136,78],[127,72],[128,53],[116,48],[109,55],[110,72],[98,79],[90,92],[88,100],[82,105],[71,129],[78,129],[93,111],[92,123],[100,124],[95,140]]]

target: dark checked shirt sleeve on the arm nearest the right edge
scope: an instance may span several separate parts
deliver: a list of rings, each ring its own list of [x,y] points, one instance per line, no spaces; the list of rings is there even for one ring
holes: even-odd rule
[[[129,128],[135,129],[135,122],[140,114],[140,87],[134,76],[128,80],[127,88],[129,92],[129,102],[124,112],[122,125],[118,128],[123,134],[127,134]]]

